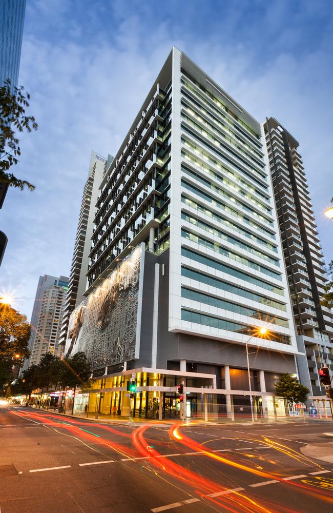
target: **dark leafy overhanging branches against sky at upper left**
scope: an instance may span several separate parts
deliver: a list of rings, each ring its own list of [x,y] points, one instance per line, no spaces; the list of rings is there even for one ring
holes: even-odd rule
[[[29,107],[30,94],[25,93],[23,86],[11,87],[10,80],[0,87],[0,182],[23,190],[28,187],[34,190],[35,186],[26,180],[20,180],[10,172],[11,166],[18,163],[21,154],[17,132],[37,130],[37,123],[33,116],[26,115]]]

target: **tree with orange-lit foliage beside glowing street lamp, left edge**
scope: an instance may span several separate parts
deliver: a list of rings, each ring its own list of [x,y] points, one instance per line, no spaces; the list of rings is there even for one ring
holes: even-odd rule
[[[14,365],[22,365],[29,357],[28,341],[31,325],[22,313],[0,303],[0,386],[11,381]]]

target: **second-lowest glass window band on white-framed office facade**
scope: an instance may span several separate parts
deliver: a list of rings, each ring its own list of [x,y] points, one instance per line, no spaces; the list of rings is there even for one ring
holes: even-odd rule
[[[230,301],[225,301],[214,295],[198,292],[188,287],[181,287],[181,297],[198,303],[204,303],[209,306],[215,306],[216,308],[222,308],[223,310],[228,310],[230,312],[239,313],[240,315],[246,315],[247,317],[253,317],[254,319],[260,319],[261,321],[276,324],[283,328],[289,328],[289,323],[285,319],[275,317],[275,315],[270,315],[267,312],[241,306]]]

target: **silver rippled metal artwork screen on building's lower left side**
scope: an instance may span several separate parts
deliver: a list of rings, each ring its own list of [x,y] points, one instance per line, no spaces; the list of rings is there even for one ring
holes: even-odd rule
[[[65,354],[84,351],[94,369],[135,358],[141,246],[71,314]]]

